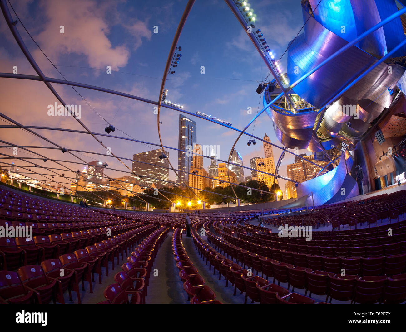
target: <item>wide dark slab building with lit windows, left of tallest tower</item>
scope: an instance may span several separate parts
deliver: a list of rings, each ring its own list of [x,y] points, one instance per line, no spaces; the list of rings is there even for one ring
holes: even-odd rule
[[[143,186],[145,182],[150,186],[162,188],[168,185],[169,181],[169,152],[166,151],[167,158],[160,158],[162,149],[156,149],[134,154],[132,159],[132,171],[137,182]],[[140,178],[139,176],[142,176]],[[145,182],[144,182],[145,181]]]

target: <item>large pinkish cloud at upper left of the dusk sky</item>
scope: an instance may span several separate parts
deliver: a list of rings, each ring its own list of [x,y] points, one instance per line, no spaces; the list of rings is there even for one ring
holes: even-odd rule
[[[86,56],[91,67],[111,66],[118,70],[127,64],[130,51],[125,45],[112,46],[107,37],[110,30],[105,13],[96,2],[48,0],[43,2],[43,8],[48,21],[37,41],[51,60],[75,53]],[[65,33],[60,33],[60,26],[65,27]],[[147,34],[142,24],[134,24],[132,30],[142,32],[139,38]]]

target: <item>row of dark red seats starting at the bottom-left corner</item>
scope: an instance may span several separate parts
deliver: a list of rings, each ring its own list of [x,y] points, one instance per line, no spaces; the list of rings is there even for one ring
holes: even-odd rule
[[[51,300],[65,303],[63,293],[71,290],[78,294],[79,284],[89,282],[89,291],[93,293],[94,273],[99,274],[101,283],[102,266],[108,274],[108,261],[114,261],[120,252],[127,252],[135,246],[140,234],[145,234],[151,226],[143,226],[118,234],[120,242],[98,242],[74,253],[60,255],[58,259],[46,259],[40,265],[24,265],[17,272],[0,271],[0,302],[10,304],[46,304]],[[110,239],[109,239],[110,240]],[[106,246],[105,246],[106,244]],[[114,269],[114,267],[113,267]]]

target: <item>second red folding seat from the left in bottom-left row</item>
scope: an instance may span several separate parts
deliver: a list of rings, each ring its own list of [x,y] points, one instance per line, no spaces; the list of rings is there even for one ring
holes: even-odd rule
[[[56,280],[48,279],[41,266],[25,265],[17,273],[27,291],[35,293],[39,304],[47,304],[51,300],[55,304],[56,298],[63,298]]]

